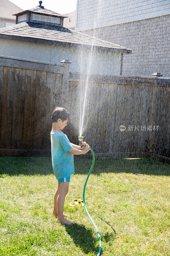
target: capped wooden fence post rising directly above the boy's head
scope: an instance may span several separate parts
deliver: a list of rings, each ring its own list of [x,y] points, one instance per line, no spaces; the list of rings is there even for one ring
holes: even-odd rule
[[[69,78],[70,78],[70,64],[69,60],[60,61],[64,65],[63,69],[63,103],[65,108],[67,108],[67,97],[68,97],[68,89],[69,89]]]

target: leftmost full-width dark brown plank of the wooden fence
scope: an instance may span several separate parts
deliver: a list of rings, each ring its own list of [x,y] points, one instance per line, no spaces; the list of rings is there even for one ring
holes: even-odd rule
[[[4,67],[0,148],[11,148],[14,73],[15,68]]]

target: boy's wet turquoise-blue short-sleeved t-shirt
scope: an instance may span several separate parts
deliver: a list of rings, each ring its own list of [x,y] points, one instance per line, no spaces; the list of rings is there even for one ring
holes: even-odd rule
[[[74,155],[68,152],[71,148],[66,134],[51,132],[51,156],[57,180],[74,174]]]

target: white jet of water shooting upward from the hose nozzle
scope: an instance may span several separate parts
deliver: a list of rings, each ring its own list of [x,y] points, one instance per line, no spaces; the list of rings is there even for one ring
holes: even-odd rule
[[[98,22],[99,22],[100,14],[101,14],[101,0],[98,0],[98,16],[97,16],[97,19],[94,19],[94,22],[93,22],[94,28],[96,28],[96,24],[98,24]],[[87,124],[88,116],[86,116],[86,110],[87,110],[88,104],[90,104],[89,98],[87,96],[90,93],[89,92],[89,78],[90,78],[90,74],[91,74],[92,61],[93,61],[93,55],[94,55],[94,43],[95,43],[94,37],[97,37],[96,31],[97,31],[96,29],[93,30],[93,39],[92,39],[90,53],[88,56],[87,76],[86,76],[85,85],[83,86],[82,81],[81,81],[81,85],[80,85],[80,94],[81,94],[80,98],[82,100],[80,102],[79,136],[82,136],[83,132],[87,128],[86,124]],[[83,102],[83,105],[82,105],[82,102]],[[86,117],[86,122],[85,122],[85,117]]]

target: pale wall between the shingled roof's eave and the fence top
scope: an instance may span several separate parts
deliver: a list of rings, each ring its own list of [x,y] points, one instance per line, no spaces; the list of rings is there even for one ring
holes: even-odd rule
[[[54,63],[66,59],[72,62],[71,72],[103,75],[120,75],[121,72],[121,54],[112,52],[91,52],[70,47],[0,39],[0,55]]]

